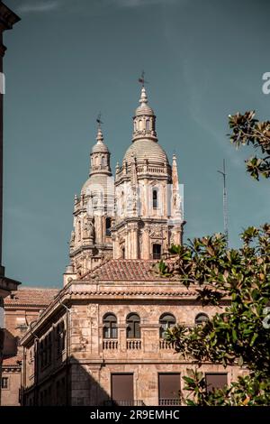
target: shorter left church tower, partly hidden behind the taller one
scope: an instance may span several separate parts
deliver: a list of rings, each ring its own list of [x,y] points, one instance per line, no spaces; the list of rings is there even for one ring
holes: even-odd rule
[[[80,196],[75,196],[74,228],[69,243],[70,265],[64,274],[64,284],[68,277],[83,275],[105,258],[112,257],[114,183],[110,156],[98,124],[96,143],[90,153],[89,178]]]

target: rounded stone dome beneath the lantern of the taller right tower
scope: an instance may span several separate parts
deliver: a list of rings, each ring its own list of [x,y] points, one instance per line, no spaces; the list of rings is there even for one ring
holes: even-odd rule
[[[138,162],[144,161],[145,158],[149,162],[159,162],[162,164],[168,162],[166,152],[157,142],[150,139],[133,142],[125,153],[123,161],[130,163],[133,156],[136,157]]]

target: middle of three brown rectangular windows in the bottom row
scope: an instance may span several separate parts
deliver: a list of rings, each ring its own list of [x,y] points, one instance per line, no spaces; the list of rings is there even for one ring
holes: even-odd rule
[[[158,405],[180,405],[180,373],[158,374]]]

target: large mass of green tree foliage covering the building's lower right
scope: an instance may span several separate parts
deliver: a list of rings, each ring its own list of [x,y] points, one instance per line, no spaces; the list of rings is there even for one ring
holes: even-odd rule
[[[169,328],[166,339],[175,342],[176,352],[198,365],[245,365],[252,373],[211,394],[202,375],[194,374],[189,378],[195,383],[185,379],[193,393],[189,404],[270,404],[270,328],[264,326],[270,305],[270,225],[249,227],[241,238],[238,250],[228,250],[220,234],[173,246],[170,260],[159,268],[161,275],[193,286],[203,305],[222,307],[203,325]]]

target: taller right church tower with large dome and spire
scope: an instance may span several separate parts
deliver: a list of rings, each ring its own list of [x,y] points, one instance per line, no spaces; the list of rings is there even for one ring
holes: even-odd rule
[[[115,175],[113,258],[159,259],[182,242],[182,199],[176,158],[157,143],[156,115],[144,85],[133,117],[132,143]]]

